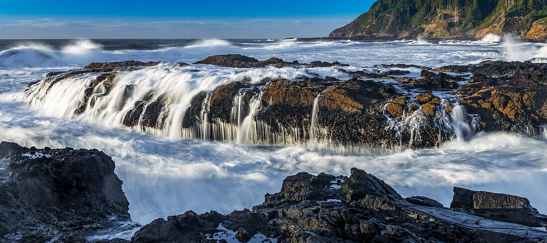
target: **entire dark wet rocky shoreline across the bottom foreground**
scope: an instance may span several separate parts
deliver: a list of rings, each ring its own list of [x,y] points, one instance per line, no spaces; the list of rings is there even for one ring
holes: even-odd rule
[[[2,142],[0,157],[0,242],[86,242],[105,227],[139,227],[115,223],[130,221],[129,203],[104,153]],[[288,176],[252,210],[188,211],[142,226],[131,240],[98,242],[546,242],[547,232],[532,228],[546,222],[526,198],[455,187],[449,209],[403,198],[353,168],[350,176]]]

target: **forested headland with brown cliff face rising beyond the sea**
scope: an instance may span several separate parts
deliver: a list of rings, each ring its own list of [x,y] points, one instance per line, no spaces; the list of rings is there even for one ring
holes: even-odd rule
[[[517,33],[545,39],[547,0],[379,0],[329,37],[476,37]]]

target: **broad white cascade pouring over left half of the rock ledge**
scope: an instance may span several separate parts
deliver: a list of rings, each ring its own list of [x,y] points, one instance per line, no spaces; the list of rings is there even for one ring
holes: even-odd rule
[[[240,69],[234,72],[218,67],[196,70],[160,66],[120,72],[115,75],[112,87],[105,88],[106,81],[103,81],[92,88],[89,100],[84,103],[85,112],[79,115],[75,115],[74,110],[82,105],[84,90],[94,81],[96,75],[78,74],[60,81],[46,78],[39,85],[32,86],[30,90],[16,94],[15,97],[31,106],[44,109],[48,115],[77,116],[107,126],[125,124],[172,139],[293,144],[300,140],[299,128],[280,126],[276,127],[278,132],[274,133],[269,125],[253,119],[254,113],[260,107],[261,94],[252,98],[248,112],[243,94],[238,94],[234,99],[230,123],[211,119],[211,96],[208,94],[201,106],[201,123],[194,123],[189,128],[181,127],[181,124],[191,105],[191,99],[203,90],[211,92],[220,85],[248,77],[253,78],[252,82],[257,82],[264,76],[294,79],[303,75],[307,75],[305,70],[295,68]],[[149,110],[160,104],[157,120],[150,121]],[[142,109],[142,112],[138,113],[135,122],[124,121],[131,112],[138,109]]]

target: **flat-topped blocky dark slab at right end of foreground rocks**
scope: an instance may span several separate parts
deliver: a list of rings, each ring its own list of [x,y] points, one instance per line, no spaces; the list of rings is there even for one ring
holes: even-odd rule
[[[528,199],[516,195],[454,187],[454,198],[450,208],[497,221],[530,227],[547,226],[547,215],[539,214],[537,209],[532,208]]]

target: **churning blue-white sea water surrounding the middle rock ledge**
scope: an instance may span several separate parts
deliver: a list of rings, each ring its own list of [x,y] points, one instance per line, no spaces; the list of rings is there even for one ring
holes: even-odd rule
[[[119,104],[115,97],[101,100],[98,104],[104,109],[100,112],[75,117],[72,111],[78,105],[77,94],[94,76],[71,78],[71,85],[56,86],[47,96],[35,93],[39,102],[29,103],[21,93],[30,82],[43,79],[49,72],[79,69],[91,62],[161,61],[156,67],[123,73],[117,81],[138,84],[140,96],[150,90],[165,91],[172,96],[170,109],[176,111],[172,114],[183,114],[194,94],[231,81],[294,79],[312,73],[348,78],[332,67],[176,66],[177,62],[193,63],[218,54],[242,54],[258,60],[278,57],[304,63],[339,61],[350,64],[347,69],[369,70],[375,64],[391,63],[440,67],[484,60],[540,62],[547,58],[547,46],[494,35],[477,41],[439,43],[425,39],[378,43],[298,39],[0,40],[0,140],[29,147],[104,151],[116,162],[115,173],[124,182],[132,220],[139,223],[188,210],[228,213],[250,208],[260,204],[265,193],[279,191],[288,175],[299,171],[348,175],[352,167],[376,175],[404,197],[424,195],[448,206],[452,187],[459,186],[520,195],[540,212],[547,212],[547,134],[531,138],[515,133],[479,133],[417,150],[261,145],[242,139],[242,135],[239,139],[234,135],[226,141],[211,141],[175,128],[127,128],[121,125],[123,112],[109,112],[115,110],[109,106]],[[409,70],[411,75],[419,75],[419,71]],[[245,117],[235,114],[238,124],[246,124]],[[182,117],[173,115],[168,119],[168,124],[176,125]],[[245,131],[238,134],[250,136]]]

